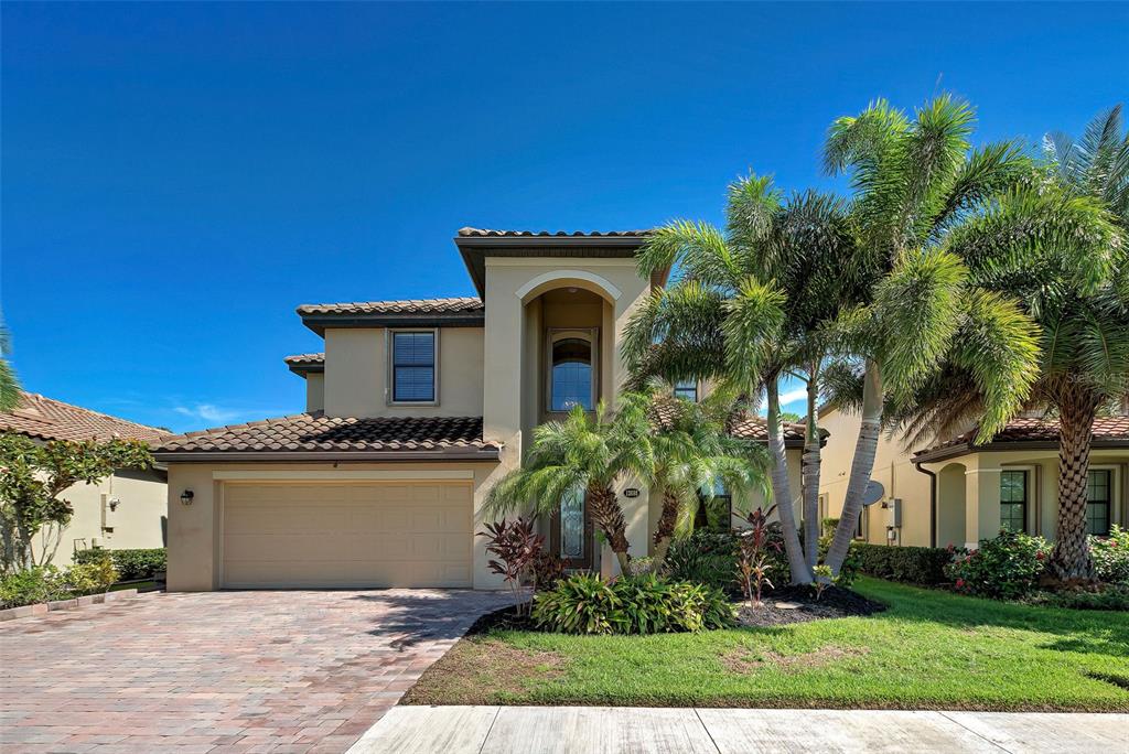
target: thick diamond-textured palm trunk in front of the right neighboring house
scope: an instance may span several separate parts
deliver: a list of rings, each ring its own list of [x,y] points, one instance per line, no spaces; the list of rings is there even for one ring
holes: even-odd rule
[[[1051,572],[1062,581],[1093,581],[1086,538],[1086,480],[1096,401],[1082,387],[1059,396],[1059,515]]]

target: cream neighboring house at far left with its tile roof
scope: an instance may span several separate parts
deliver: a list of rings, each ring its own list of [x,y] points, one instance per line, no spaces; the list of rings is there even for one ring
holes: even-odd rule
[[[14,411],[0,413],[0,430],[38,442],[119,438],[155,445],[172,436],[35,393],[21,393]],[[44,531],[36,550],[37,554],[54,550],[56,566],[69,564],[76,550],[94,545],[107,550],[165,546],[168,491],[164,468],[119,468],[97,484],[75,484],[60,497],[71,503],[75,515],[62,532]]]

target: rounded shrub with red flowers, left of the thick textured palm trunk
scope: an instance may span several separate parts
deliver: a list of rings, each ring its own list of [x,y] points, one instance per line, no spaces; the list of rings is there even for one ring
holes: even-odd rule
[[[1042,537],[1000,532],[995,540],[981,540],[979,550],[954,551],[945,576],[961,594],[1016,599],[1035,588],[1049,554]]]

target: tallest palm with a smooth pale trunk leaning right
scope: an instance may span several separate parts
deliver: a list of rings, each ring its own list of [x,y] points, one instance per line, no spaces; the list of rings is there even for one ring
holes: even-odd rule
[[[912,405],[946,368],[979,396],[978,440],[1003,429],[1031,394],[1039,343],[1016,301],[978,286],[952,238],[1030,174],[1014,142],[973,149],[972,108],[948,95],[912,119],[885,102],[837,120],[825,148],[831,174],[849,173],[858,258],[869,296],[840,317],[842,352],[858,363],[861,427],[826,564],[847,556],[887,406]],[[998,238],[1022,236],[1027,213],[1001,218]],[[1014,244],[1013,244],[1014,246]]]

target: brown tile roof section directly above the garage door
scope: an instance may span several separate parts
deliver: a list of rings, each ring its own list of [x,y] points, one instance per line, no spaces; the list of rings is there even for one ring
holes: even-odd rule
[[[167,438],[155,453],[435,453],[497,457],[482,439],[481,417],[355,419],[300,413]]]

